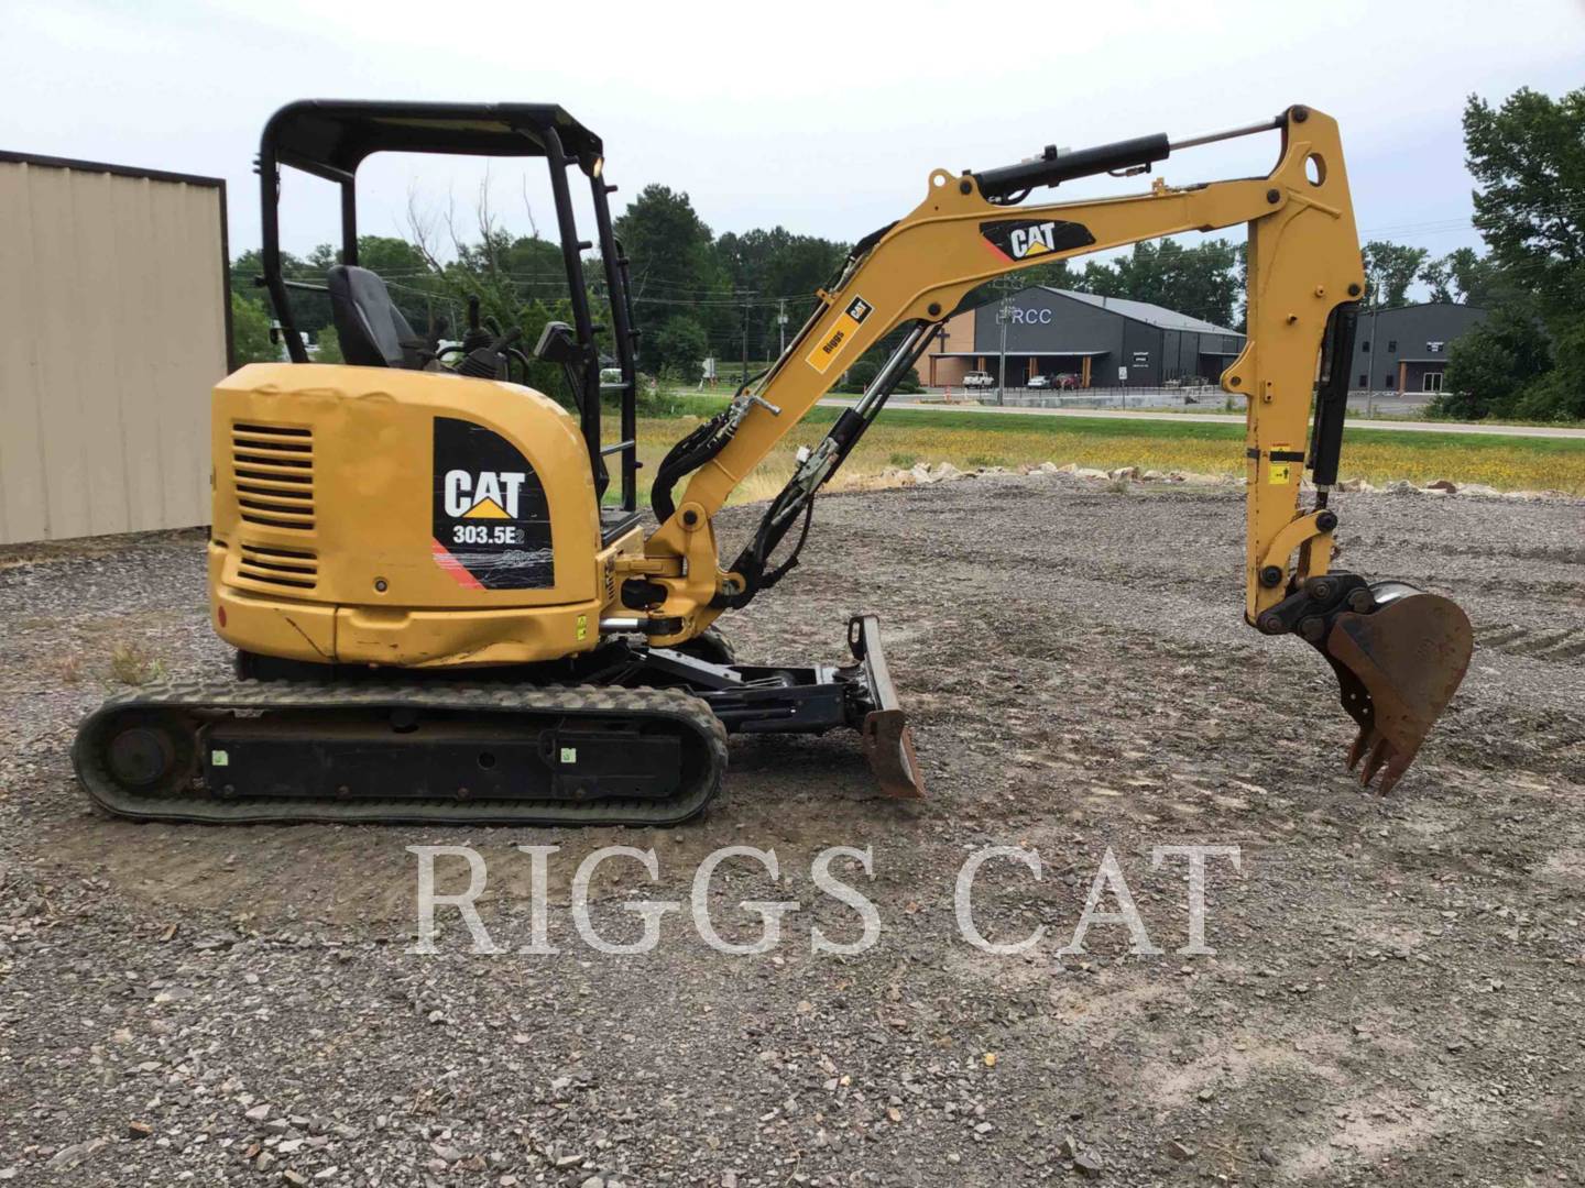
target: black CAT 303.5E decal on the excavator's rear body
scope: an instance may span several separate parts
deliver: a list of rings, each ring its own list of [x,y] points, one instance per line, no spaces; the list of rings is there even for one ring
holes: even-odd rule
[[[434,418],[434,562],[468,589],[556,584],[550,507],[534,467],[501,434]]]

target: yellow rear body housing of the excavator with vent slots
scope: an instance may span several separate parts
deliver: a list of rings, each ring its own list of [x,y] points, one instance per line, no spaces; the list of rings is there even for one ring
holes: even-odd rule
[[[531,388],[347,364],[214,390],[209,600],[244,653],[391,668],[599,645],[615,565],[577,421]]]

